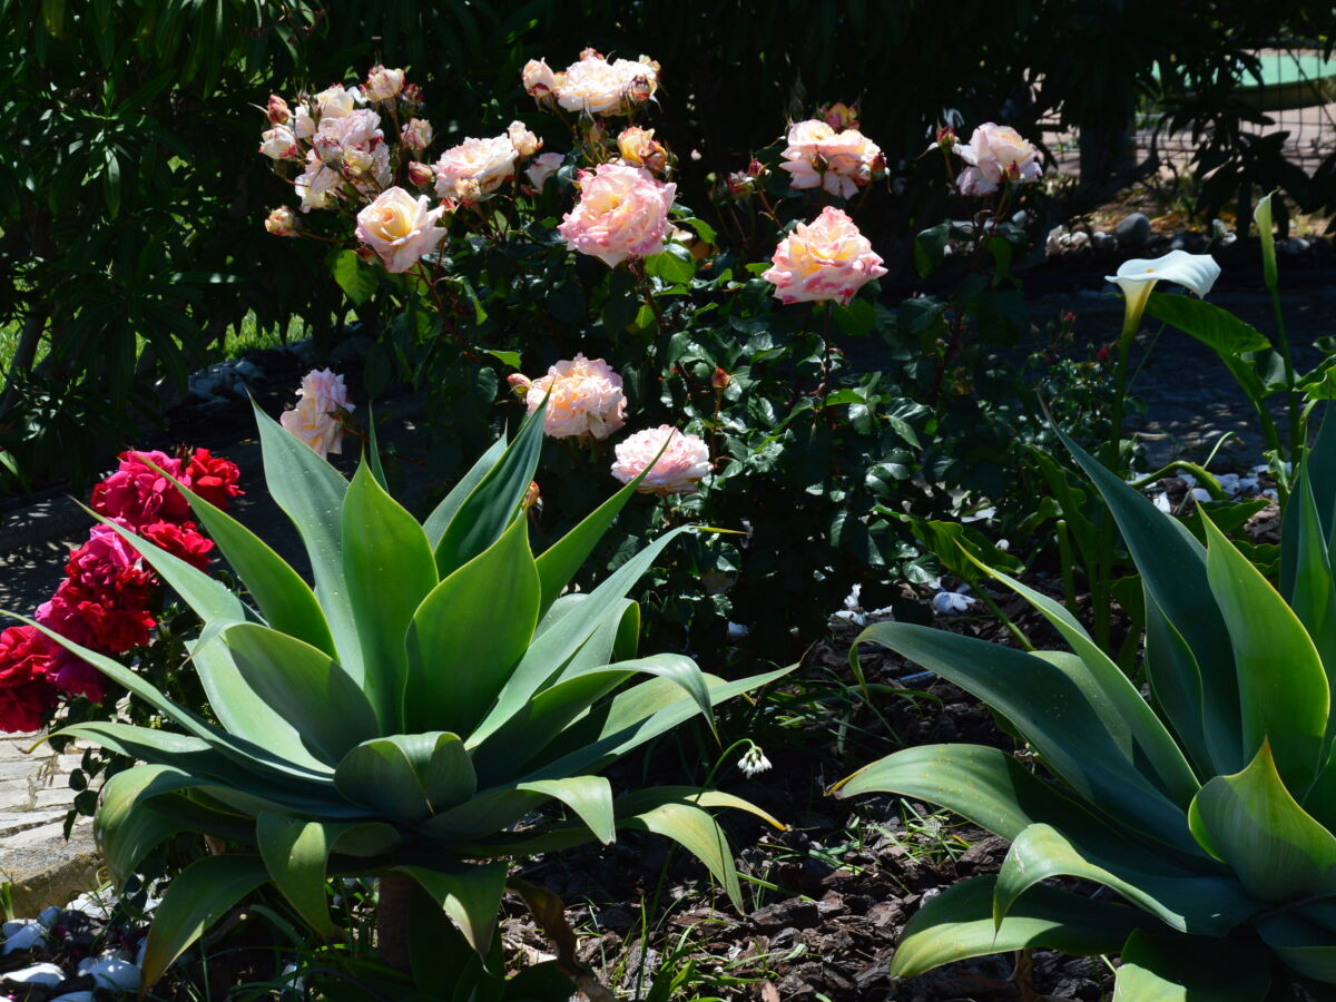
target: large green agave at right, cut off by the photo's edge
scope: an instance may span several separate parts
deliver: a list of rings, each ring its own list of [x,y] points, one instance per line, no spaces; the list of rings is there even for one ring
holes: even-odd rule
[[[1031,752],[908,748],[839,784],[941,804],[1011,842],[997,876],[914,916],[892,974],[1042,946],[1121,955],[1118,1002],[1336,997],[1336,422],[1295,485],[1280,589],[1205,513],[1204,545],[1067,446],[1141,573],[1150,696],[1062,605],[997,572],[1070,651],[899,623],[862,633],[973,692]]]

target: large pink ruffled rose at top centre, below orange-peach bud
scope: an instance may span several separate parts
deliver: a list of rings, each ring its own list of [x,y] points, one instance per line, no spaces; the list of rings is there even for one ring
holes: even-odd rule
[[[580,202],[557,227],[570,250],[616,267],[664,248],[676,184],[620,163],[599,164],[593,174],[581,171],[578,180]]]

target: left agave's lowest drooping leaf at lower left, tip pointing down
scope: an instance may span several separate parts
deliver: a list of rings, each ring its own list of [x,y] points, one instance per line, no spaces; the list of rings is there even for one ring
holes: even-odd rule
[[[144,987],[152,987],[200,933],[269,879],[259,856],[204,856],[172,878],[163,895],[142,965]]]

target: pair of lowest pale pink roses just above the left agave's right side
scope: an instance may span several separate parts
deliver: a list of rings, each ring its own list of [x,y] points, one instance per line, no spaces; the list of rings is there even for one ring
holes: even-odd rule
[[[621,377],[601,358],[576,354],[537,379],[516,373],[509,382],[524,397],[530,414],[546,398],[544,432],[553,438],[604,441],[627,424]],[[617,461],[612,465],[612,476],[623,484],[649,470],[637,488],[647,494],[691,493],[709,473],[709,449],[704,440],[683,434],[671,425],[636,432],[620,442],[615,453]]]

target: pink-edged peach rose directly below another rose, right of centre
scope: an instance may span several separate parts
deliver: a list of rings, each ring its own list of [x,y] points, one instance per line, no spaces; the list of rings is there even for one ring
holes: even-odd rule
[[[762,275],[784,303],[834,299],[848,303],[854,293],[886,274],[872,244],[842,210],[827,206],[811,223],[799,223],[779,242],[774,267]]]

